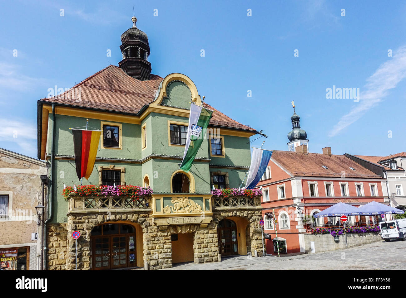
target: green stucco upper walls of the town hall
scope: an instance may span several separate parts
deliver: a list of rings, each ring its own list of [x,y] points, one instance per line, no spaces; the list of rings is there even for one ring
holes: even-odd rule
[[[168,86],[168,98],[165,105],[187,108],[190,107],[190,90],[179,81]],[[184,146],[170,146],[168,140],[168,121],[184,122],[188,125],[188,118],[151,112],[141,124],[115,122],[108,117],[105,119],[89,118],[89,127],[101,129],[101,122],[114,122],[122,126],[122,149],[102,149],[102,139],[97,149],[97,159],[89,180],[83,179],[83,184],[99,184],[100,166],[125,167],[125,184],[142,185],[143,178],[149,176],[149,185],[154,193],[171,192],[171,176],[179,169]],[[55,124],[56,123],[56,124]],[[52,131],[56,125],[55,155],[53,177],[53,219],[54,223],[63,223],[68,212],[68,203],[63,195],[63,185],[72,186],[72,181],[80,185],[76,176],[75,161],[73,159],[73,136],[69,128],[86,124],[86,118],[56,114],[53,119],[49,114],[48,142],[46,153],[49,158],[52,146]],[[146,148],[142,148],[142,126],[146,124]],[[196,192],[210,193],[210,172],[228,173],[229,186],[238,187],[246,174],[246,168],[251,162],[249,137],[222,135],[222,128],[216,128],[218,135],[224,137],[225,157],[212,157],[210,154],[210,140],[203,141],[199,153],[190,169],[194,177]],[[229,130],[229,129],[228,129]],[[106,158],[111,160],[106,160]],[[104,160],[102,160],[104,159]],[[125,159],[121,161],[120,159]],[[239,168],[243,167],[243,168]],[[203,201],[201,202],[203,204]]]

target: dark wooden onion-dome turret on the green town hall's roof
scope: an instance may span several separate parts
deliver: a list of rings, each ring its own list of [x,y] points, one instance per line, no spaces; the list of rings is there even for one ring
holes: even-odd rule
[[[141,81],[149,80],[151,77],[151,63],[149,63],[148,36],[137,28],[137,18],[132,17],[132,28],[121,34],[121,53],[123,60],[119,66],[127,75]]]

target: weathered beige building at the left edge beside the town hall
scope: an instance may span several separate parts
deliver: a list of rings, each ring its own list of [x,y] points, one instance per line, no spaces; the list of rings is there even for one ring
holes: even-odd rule
[[[42,204],[42,178],[47,165],[0,148],[0,265],[2,270],[41,268],[41,226],[36,206]]]

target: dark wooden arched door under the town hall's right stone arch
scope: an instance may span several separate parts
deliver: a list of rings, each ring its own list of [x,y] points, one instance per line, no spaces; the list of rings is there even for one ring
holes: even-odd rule
[[[238,255],[237,225],[230,219],[222,219],[217,225],[218,245],[221,256]]]

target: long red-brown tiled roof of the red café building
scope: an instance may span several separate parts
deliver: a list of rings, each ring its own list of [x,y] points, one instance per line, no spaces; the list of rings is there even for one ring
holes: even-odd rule
[[[327,155],[275,150],[271,157],[294,176],[341,177],[343,171],[351,178],[380,178],[344,155]],[[322,166],[326,166],[325,169]],[[350,169],[353,167],[355,170]]]

